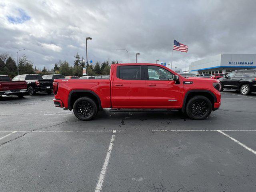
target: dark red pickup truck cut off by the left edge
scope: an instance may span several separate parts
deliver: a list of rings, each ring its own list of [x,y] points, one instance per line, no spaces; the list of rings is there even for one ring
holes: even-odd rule
[[[26,81],[12,81],[8,75],[0,75],[0,96],[17,95],[22,98],[26,90]]]

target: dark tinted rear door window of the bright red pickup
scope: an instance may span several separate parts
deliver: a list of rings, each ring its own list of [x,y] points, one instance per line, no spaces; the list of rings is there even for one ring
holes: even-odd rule
[[[141,80],[141,66],[119,66],[118,78],[124,80]]]

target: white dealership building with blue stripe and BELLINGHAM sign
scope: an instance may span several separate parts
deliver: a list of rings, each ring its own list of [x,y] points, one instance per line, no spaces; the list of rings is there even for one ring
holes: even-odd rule
[[[228,74],[237,69],[256,68],[256,54],[218,54],[192,62],[189,72]]]

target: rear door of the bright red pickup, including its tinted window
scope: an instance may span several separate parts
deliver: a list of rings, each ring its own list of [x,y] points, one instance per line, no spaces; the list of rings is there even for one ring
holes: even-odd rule
[[[112,108],[143,108],[146,104],[146,83],[141,65],[117,66],[112,80]]]

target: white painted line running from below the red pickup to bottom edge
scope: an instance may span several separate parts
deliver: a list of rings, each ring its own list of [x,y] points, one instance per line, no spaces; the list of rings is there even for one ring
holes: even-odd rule
[[[116,133],[116,131],[114,130],[113,133]],[[104,164],[102,166],[102,170],[100,172],[98,183],[97,183],[96,188],[95,188],[95,192],[101,192],[101,190],[102,190],[102,186],[103,186],[104,179],[105,179],[105,176],[106,176],[106,171],[107,171],[107,168],[108,168],[108,163],[109,163],[110,154],[111,154],[111,151],[112,151],[112,148],[113,148],[113,145],[114,145],[114,141],[115,141],[115,135],[113,134],[112,138],[110,140],[110,144],[109,144],[109,147],[108,147],[108,152],[106,154]]]

